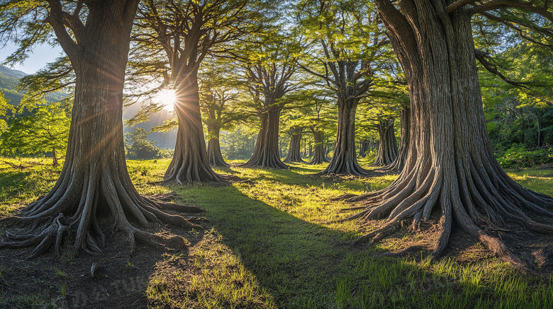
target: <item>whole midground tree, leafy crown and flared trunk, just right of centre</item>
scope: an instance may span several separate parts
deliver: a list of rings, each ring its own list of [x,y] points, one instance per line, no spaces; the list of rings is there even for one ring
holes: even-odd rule
[[[320,175],[367,176],[357,163],[355,112],[376,73],[392,57],[384,28],[367,1],[302,1],[297,15],[313,44],[320,46],[311,64],[302,68],[321,78],[337,97],[335,151]]]

